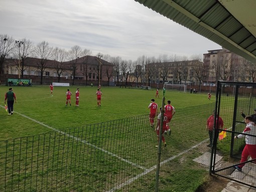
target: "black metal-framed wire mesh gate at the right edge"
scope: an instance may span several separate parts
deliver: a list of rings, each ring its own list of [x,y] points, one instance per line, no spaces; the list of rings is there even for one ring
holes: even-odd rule
[[[256,108],[256,84],[218,82],[217,86],[217,113],[222,117],[224,127],[216,129],[216,132],[224,131],[222,132],[224,137],[221,135],[221,137],[214,138],[216,141],[213,151],[215,164],[212,167],[212,172],[256,188],[256,164],[252,162],[253,159],[248,159],[241,171],[234,168],[240,164],[241,153],[245,146],[245,137],[236,139],[234,136],[241,134],[245,129],[244,116],[256,113],[254,111]],[[256,140],[256,135],[245,133],[244,136],[246,135]]]

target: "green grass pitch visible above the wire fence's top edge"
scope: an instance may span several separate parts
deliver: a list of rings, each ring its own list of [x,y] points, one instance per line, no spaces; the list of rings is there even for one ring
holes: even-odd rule
[[[72,106],[65,106],[65,93],[67,88],[72,92]],[[102,87],[101,107],[97,107],[96,87],[80,88],[80,107],[75,107],[76,86],[55,87],[53,95],[49,86],[13,87],[17,95],[14,112],[37,120],[55,129],[63,130],[70,127],[79,127],[93,123],[105,122],[114,119],[134,117],[149,113],[150,100],[155,98],[155,90],[141,90],[129,88]],[[14,114],[7,115],[3,108],[4,95],[9,87],[1,86],[0,93],[3,102],[0,103],[0,128],[1,140],[10,138],[36,135],[52,131],[49,128],[31,121],[30,119]],[[160,95],[162,93],[160,92]],[[162,98],[155,98],[159,107]],[[214,97],[209,101],[207,95],[190,94],[177,91],[167,91],[166,100],[176,108],[203,105],[214,102]]]

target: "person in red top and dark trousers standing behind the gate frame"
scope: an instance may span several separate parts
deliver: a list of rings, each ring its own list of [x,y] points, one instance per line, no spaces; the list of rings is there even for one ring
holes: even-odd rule
[[[218,118],[215,118],[214,115],[215,115],[215,110],[212,111],[212,115],[209,116],[206,122],[206,129],[209,132],[209,139],[210,139],[210,144],[208,144],[207,147],[212,147],[214,119],[216,120],[216,125],[217,125],[216,129],[222,129],[224,126],[222,118],[220,116],[218,116]]]

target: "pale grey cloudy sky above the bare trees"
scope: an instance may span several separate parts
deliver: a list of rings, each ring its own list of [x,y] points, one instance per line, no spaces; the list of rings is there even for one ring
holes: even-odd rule
[[[0,33],[34,44],[125,60],[140,56],[200,55],[221,49],[212,41],[134,0],[1,0]]]

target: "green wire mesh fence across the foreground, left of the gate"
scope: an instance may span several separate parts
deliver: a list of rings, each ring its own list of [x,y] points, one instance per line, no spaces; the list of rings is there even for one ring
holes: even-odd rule
[[[176,109],[162,147],[159,191],[195,191],[209,167],[214,104]],[[0,191],[155,191],[157,136],[149,115],[0,141]]]

